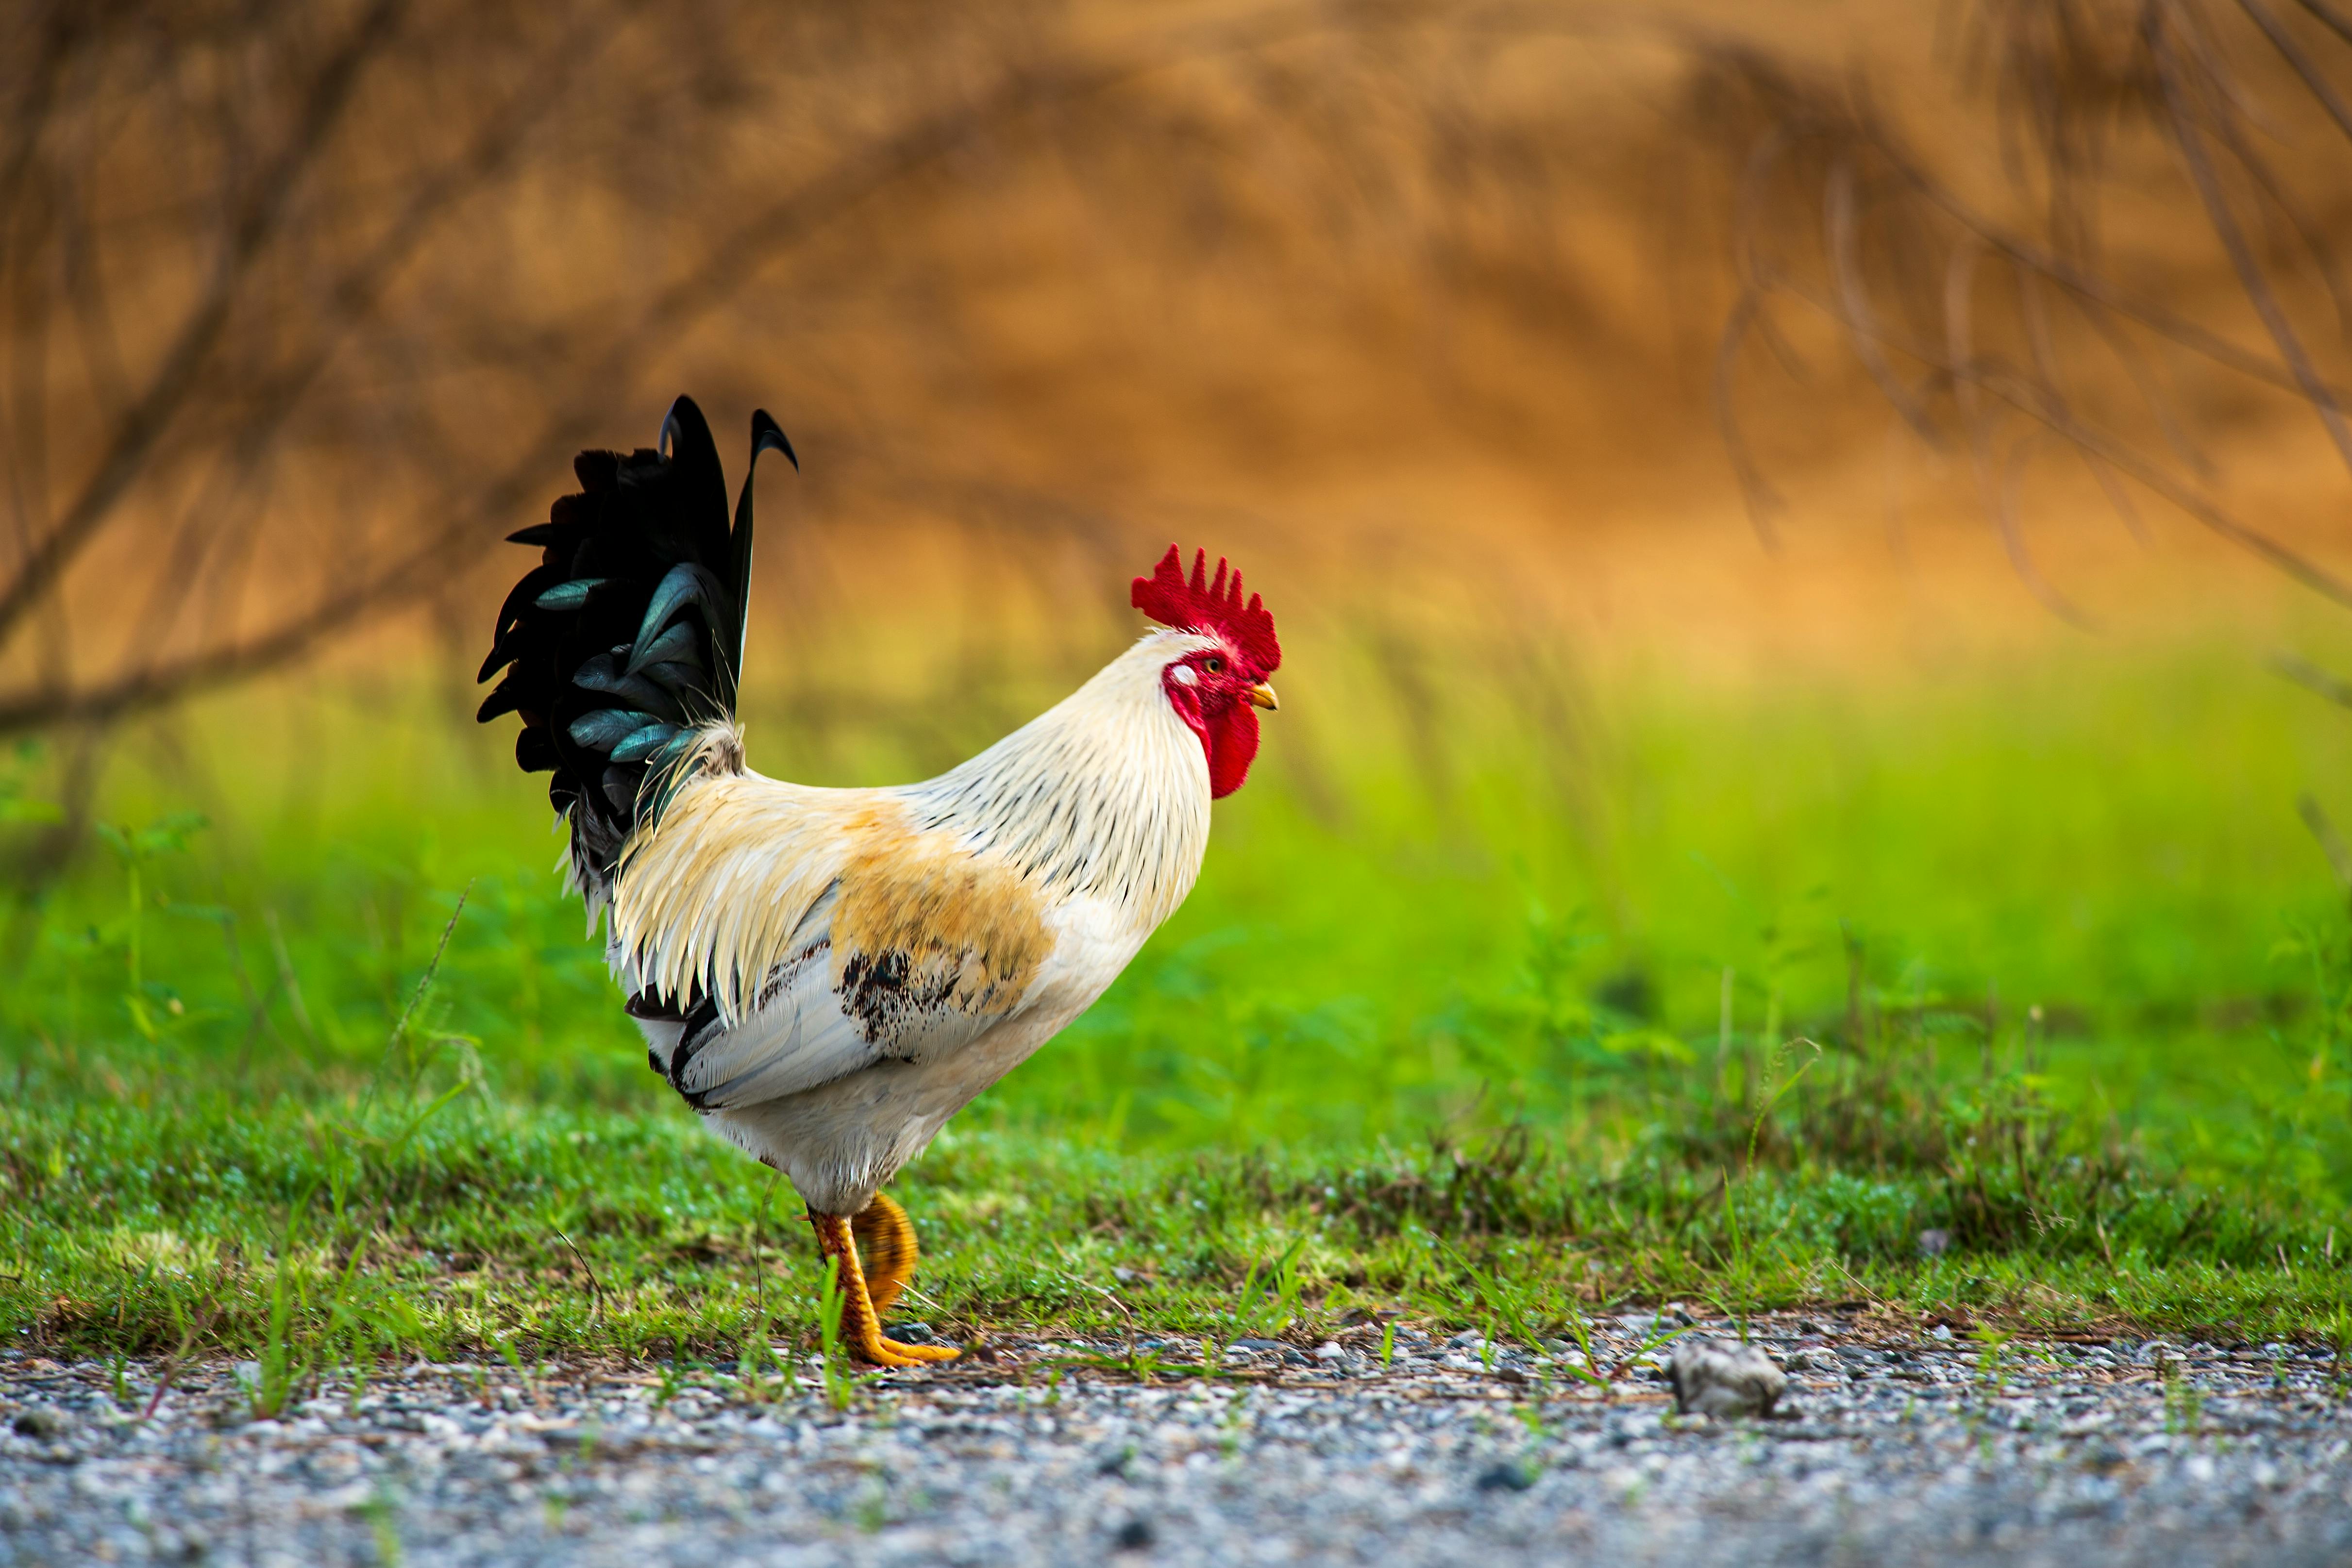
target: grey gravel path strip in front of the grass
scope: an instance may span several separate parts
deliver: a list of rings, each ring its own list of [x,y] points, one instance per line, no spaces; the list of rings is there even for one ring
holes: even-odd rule
[[[1562,1352],[1376,1331],[1232,1385],[1000,1345],[847,1413],[661,1371],[416,1366],[247,1420],[252,1368],[0,1352],[0,1563],[2345,1563],[2352,1366],[1773,1319],[1776,1420],[1672,1415],[1609,1326]],[[1261,1342],[1263,1345],[1263,1342]],[[1120,1347],[1124,1349],[1124,1347]],[[1162,1354],[1171,1354],[1169,1347]],[[1661,1352],[1665,1354],[1665,1352]],[[779,1385],[781,1387],[781,1385]],[[127,1410],[125,1403],[127,1401]]]

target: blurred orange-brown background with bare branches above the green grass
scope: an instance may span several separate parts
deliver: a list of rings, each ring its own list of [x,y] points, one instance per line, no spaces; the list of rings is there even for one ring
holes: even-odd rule
[[[800,447],[814,715],[1091,668],[1169,538],[1399,670],[2263,651],[2352,597],[2347,99],[2321,0],[26,0],[0,733],[470,677],[677,390]]]

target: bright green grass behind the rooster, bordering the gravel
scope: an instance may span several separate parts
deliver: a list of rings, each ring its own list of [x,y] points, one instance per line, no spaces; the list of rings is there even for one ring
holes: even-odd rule
[[[2336,712],[2199,649],[1444,715],[1296,663],[1185,910],[901,1180],[920,1314],[2352,1333],[2352,931],[2293,811],[2352,820]],[[823,1338],[793,1194],[644,1072],[539,780],[459,703],[148,731],[16,900],[0,1331],[254,1354],[263,1403],[372,1354]],[[913,776],[1000,719],[779,696],[753,757]]]

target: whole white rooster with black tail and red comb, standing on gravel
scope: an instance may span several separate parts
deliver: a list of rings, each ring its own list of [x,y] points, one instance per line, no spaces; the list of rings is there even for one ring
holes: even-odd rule
[[[800,458],[764,411],[750,463]],[[927,783],[818,790],[753,773],[736,726],[753,480],[727,522],[710,425],[680,397],[654,451],[583,451],[579,494],[513,534],[541,564],[499,609],[480,719],[520,715],[553,771],[567,886],[647,1060],[809,1208],[842,1338],[948,1361],[882,1314],[915,1229],[882,1187],[1127,969],[1183,903],[1209,802],[1258,752],[1282,663],[1242,574],[1169,552],[1131,602],[1164,630]]]

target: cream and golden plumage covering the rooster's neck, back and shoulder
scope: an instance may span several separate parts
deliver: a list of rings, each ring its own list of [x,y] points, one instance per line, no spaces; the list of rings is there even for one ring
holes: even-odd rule
[[[734,1027],[769,976],[826,940],[835,987],[887,961],[936,1006],[1004,1013],[1049,957],[1054,900],[1101,900],[1141,943],[1209,842],[1207,762],[1160,686],[1202,646],[1152,632],[971,762],[894,790],[764,778],[743,771],[731,726],[703,731],[621,853],[623,983],[710,997]]]

